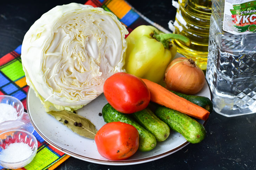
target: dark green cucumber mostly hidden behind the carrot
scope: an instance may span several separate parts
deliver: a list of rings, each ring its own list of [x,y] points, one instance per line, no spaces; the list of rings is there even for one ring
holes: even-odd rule
[[[182,93],[178,93],[176,91],[171,91],[171,92],[198,105],[198,106],[201,106],[202,108],[208,110],[210,113],[213,111],[213,103],[211,102],[211,100],[208,97],[185,95]]]

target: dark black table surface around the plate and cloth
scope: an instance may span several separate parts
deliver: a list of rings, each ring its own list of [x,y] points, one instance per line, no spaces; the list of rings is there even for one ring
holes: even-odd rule
[[[73,2],[85,3],[86,0]],[[29,27],[39,17],[56,5],[72,1],[5,1],[0,2],[0,56],[22,44]],[[176,10],[171,0],[128,0],[150,20],[168,29]],[[198,144],[148,163],[112,166],[68,158],[56,170],[132,170],[132,169],[255,169],[256,167],[256,114],[227,118],[211,113],[206,125],[206,138]]]

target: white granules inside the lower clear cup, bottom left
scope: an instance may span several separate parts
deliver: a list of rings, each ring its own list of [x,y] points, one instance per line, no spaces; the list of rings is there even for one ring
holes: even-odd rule
[[[0,160],[4,162],[19,162],[27,159],[33,153],[27,143],[11,143],[1,151]]]

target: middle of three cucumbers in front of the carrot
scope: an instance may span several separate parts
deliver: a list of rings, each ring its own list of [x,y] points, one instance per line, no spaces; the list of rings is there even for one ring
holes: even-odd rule
[[[169,126],[160,120],[156,115],[148,108],[135,112],[132,117],[146,130],[151,132],[156,141],[164,141],[170,134]]]

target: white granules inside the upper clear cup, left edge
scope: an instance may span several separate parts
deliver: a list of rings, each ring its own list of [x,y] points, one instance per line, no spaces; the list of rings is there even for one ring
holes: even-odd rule
[[[0,123],[18,118],[16,109],[5,103],[0,103]]]

